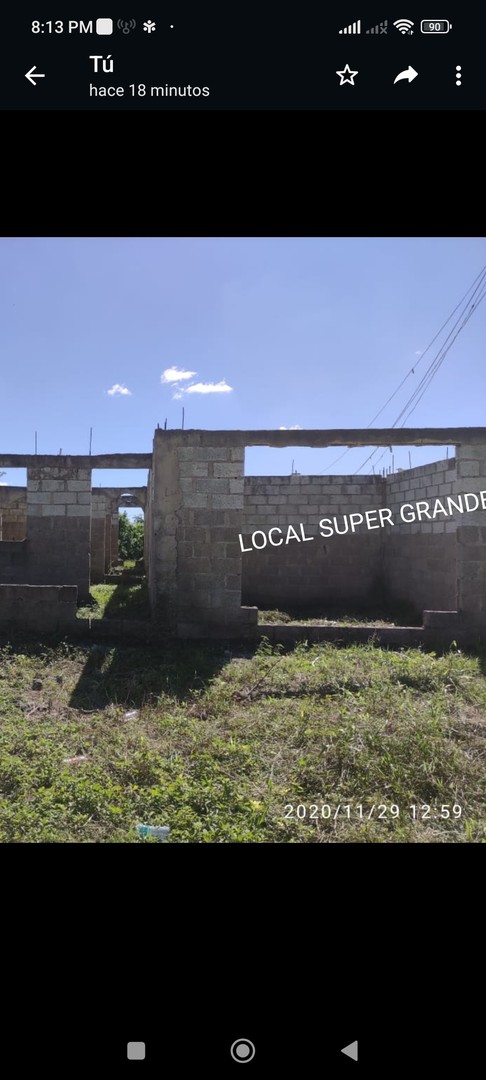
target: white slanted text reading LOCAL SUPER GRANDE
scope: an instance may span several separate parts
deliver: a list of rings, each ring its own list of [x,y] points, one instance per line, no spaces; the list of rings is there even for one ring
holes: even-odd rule
[[[346,536],[347,532],[356,532],[364,527],[366,529],[384,528],[386,525],[394,526],[400,524],[413,524],[415,522],[433,522],[442,517],[451,517],[454,513],[471,514],[475,510],[486,511],[486,490],[465,492],[456,495],[454,498],[447,496],[445,499],[434,499],[428,502],[426,499],[419,502],[404,502],[397,511],[392,511],[387,507],[379,507],[374,510],[365,510],[364,513],[342,514],[340,517],[322,517],[319,522],[320,536],[327,538],[332,536]],[[297,531],[298,530],[298,531]],[[243,535],[239,534],[240,548],[242,552],[261,551],[269,543],[272,548],[280,548],[291,540],[308,542],[315,540],[315,536],[306,536],[306,526],[288,525],[286,529],[273,526],[268,531],[256,529],[252,532],[251,546],[246,548]]]

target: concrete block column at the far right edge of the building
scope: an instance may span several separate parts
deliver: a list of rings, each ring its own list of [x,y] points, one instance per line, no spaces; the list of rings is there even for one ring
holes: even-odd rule
[[[457,463],[458,491],[478,500],[457,530],[458,606],[465,622],[486,627],[486,444],[458,446]]]

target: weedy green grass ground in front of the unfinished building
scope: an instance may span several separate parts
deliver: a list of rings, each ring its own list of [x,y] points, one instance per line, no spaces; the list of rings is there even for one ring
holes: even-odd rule
[[[3,646],[0,841],[485,842],[485,672],[455,647]]]

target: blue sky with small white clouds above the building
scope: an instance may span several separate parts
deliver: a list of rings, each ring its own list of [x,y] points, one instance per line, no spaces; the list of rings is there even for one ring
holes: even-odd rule
[[[40,454],[86,454],[92,427],[93,454],[149,451],[183,406],[186,428],[367,427],[415,364],[375,424],[391,427],[485,264],[476,238],[2,239],[0,448],[33,453],[37,431]],[[407,426],[485,423],[485,341],[486,302]],[[348,474],[370,451],[332,467],[340,453],[255,447],[245,471]]]

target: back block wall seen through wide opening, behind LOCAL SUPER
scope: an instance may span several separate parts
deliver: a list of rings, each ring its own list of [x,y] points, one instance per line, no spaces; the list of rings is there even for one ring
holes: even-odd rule
[[[279,526],[285,540],[293,525],[312,540],[292,539],[287,544],[252,550],[242,555],[242,599],[260,608],[287,606],[350,611],[377,607],[381,600],[383,530],[360,526],[353,534],[321,537],[319,522],[384,505],[381,476],[245,476],[244,546],[255,530],[268,534]],[[334,527],[334,523],[333,523]],[[274,535],[279,539],[278,535]],[[257,543],[261,543],[257,538]]]

